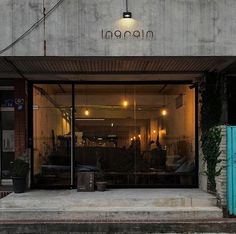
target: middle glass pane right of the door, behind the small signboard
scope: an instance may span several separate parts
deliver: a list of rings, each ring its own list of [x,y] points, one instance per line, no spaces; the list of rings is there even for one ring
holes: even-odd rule
[[[112,186],[135,184],[134,88],[76,85],[75,160],[99,170]]]

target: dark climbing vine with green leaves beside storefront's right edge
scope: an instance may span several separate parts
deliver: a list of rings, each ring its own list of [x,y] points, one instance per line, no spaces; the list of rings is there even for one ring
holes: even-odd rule
[[[220,124],[222,113],[221,80],[216,73],[208,73],[205,80],[200,84],[201,92],[201,130],[202,130],[202,152],[203,160],[207,164],[206,175],[208,178],[208,189],[216,190],[216,176],[219,176],[221,169],[217,169],[219,159],[221,129]]]

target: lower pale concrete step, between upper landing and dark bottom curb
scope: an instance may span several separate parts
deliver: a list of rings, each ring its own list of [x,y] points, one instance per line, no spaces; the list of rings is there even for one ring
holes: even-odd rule
[[[49,209],[1,209],[0,220],[188,220],[222,218],[222,211],[217,207],[188,208],[144,208],[110,207],[49,210]]]

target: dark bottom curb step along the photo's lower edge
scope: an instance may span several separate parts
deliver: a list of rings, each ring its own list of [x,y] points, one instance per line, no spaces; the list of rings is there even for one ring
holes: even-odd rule
[[[236,233],[236,220],[194,220],[148,222],[0,221],[0,233]]]

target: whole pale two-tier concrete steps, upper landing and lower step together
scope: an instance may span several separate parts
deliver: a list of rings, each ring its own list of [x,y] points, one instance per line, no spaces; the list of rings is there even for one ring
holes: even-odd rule
[[[0,220],[176,220],[222,218],[199,190],[30,191],[0,201]]]

